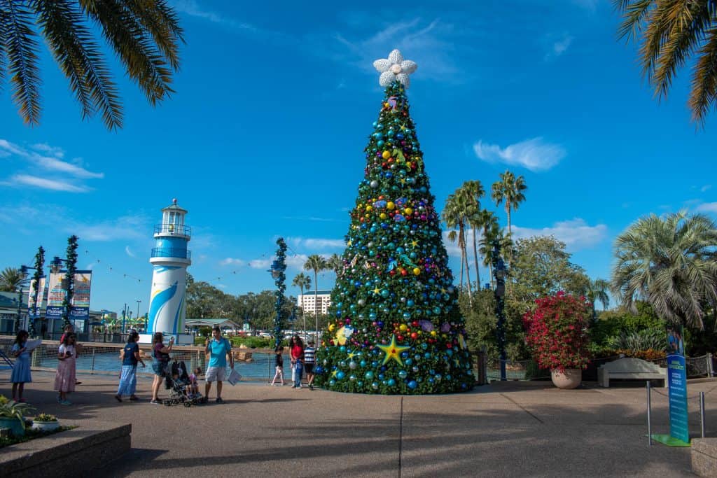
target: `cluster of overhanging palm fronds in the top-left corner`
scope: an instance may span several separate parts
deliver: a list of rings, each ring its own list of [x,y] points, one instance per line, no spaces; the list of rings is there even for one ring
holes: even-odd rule
[[[0,61],[0,80],[9,78],[25,123],[39,124],[42,37],[70,82],[82,119],[99,111],[108,129],[122,127],[118,87],[96,31],[152,106],[174,92],[184,38],[166,0],[0,0],[0,52],[6,59]]]

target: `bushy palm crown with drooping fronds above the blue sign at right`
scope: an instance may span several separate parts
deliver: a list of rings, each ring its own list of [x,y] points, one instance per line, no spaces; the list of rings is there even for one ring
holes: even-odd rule
[[[703,328],[703,307],[717,303],[716,247],[703,214],[640,218],[615,239],[612,288],[632,310],[645,300],[663,320]]]

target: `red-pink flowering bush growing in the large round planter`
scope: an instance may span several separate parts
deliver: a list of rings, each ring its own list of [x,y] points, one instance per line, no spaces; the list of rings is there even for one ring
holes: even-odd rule
[[[558,292],[536,300],[536,310],[523,315],[526,343],[540,368],[586,368],[587,328],[592,306],[585,297]]]

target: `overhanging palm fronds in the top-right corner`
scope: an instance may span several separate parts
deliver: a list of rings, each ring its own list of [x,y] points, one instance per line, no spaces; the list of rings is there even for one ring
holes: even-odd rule
[[[619,37],[640,42],[642,74],[654,88],[655,96],[666,97],[677,70],[686,63],[693,64],[688,105],[692,120],[704,124],[708,110],[717,99],[715,2],[613,1],[622,13]]]

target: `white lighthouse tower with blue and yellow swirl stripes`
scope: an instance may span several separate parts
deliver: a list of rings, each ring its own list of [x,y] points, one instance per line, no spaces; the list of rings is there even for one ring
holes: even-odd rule
[[[161,224],[154,226],[156,244],[149,259],[154,267],[147,327],[149,333],[184,333],[186,268],[191,264],[191,254],[186,248],[191,238],[191,228],[184,225],[186,212],[186,209],[177,206],[176,199],[172,199],[171,206],[162,209]]]

